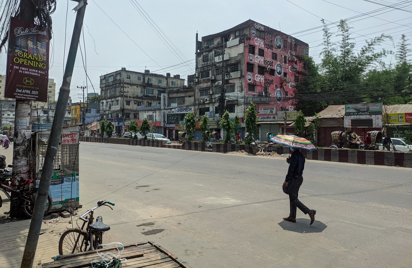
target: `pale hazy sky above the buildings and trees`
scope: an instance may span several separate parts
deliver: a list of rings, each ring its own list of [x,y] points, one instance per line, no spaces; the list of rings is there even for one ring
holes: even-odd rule
[[[318,27],[321,25],[321,18],[335,22],[341,18],[350,18],[382,9],[382,11],[372,13],[370,16],[362,16],[352,20],[354,28],[352,31],[357,33],[353,35],[356,37],[356,42],[359,45],[364,44],[366,37],[376,37],[381,33],[393,36],[395,43],[398,42],[402,33],[411,39],[412,0],[373,0],[373,2],[385,5],[400,3],[410,12],[386,8],[363,0],[290,0],[290,2],[287,0],[88,0],[83,27],[86,51],[83,48],[83,39],[81,40],[83,59],[87,60],[87,74],[94,85],[94,90],[100,93],[99,76],[121,67],[143,72],[146,66],[151,72],[159,74],[170,72],[172,75],[180,74],[182,78],[186,79],[188,74],[194,73],[196,32],[199,32],[200,39],[202,36],[232,28],[248,19],[277,30],[280,29],[286,34],[307,42],[310,46],[309,55],[314,56],[315,60],[318,60],[317,55],[321,49],[317,47],[322,42],[322,32],[319,31],[321,29],[299,34],[294,33]],[[177,47],[181,53],[171,52],[169,46],[162,42],[162,39],[140,15],[135,7],[136,3],[170,39],[166,44],[173,43],[172,46]],[[59,0],[56,12],[52,16],[54,34],[51,41],[49,77],[56,82],[56,92],[61,86],[63,61],[66,62],[73,32],[76,15],[71,10],[75,5],[74,1]],[[66,55],[63,55],[65,28],[67,29]],[[336,37],[335,40],[337,40]],[[385,43],[382,47],[396,49],[391,41]],[[7,57],[4,53],[5,49],[3,49],[0,59],[1,74],[5,74]],[[391,56],[387,62],[390,60]],[[87,81],[88,92],[93,92],[91,83]],[[73,101],[78,101],[78,94],[81,92],[76,87],[83,84],[86,85],[86,75],[79,49],[71,82],[70,97]]]

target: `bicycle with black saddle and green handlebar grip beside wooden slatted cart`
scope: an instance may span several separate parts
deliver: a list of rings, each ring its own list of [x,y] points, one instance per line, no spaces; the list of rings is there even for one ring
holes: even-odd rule
[[[115,203],[111,201],[100,200],[97,202],[97,206],[91,210],[87,210],[82,216],[76,220],[77,227],[74,229],[68,229],[65,231],[59,240],[59,254],[73,254],[76,252],[84,252],[88,250],[97,250],[100,245],[103,244],[103,233],[110,230],[110,226],[103,223],[102,216],[96,218],[96,222],[93,223],[94,210],[101,206],[115,206]],[[89,216],[87,216],[89,214]],[[82,228],[80,228],[78,221],[83,220]],[[87,224],[86,229],[84,226]]]

